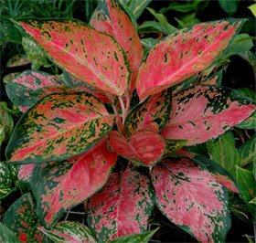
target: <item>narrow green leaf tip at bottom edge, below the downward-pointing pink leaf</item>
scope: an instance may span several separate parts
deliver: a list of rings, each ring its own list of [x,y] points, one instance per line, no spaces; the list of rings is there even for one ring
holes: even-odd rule
[[[148,231],[143,234],[135,234],[130,236],[125,236],[121,238],[115,238],[111,240],[112,243],[147,243],[150,238],[152,238],[155,235],[155,232],[159,229],[159,227],[155,228],[154,230]]]

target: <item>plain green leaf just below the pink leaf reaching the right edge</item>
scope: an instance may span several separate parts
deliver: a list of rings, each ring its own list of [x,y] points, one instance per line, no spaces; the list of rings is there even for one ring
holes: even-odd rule
[[[216,141],[208,141],[207,146],[210,158],[235,176],[235,166],[240,164],[240,153],[235,147],[233,133],[226,132]]]

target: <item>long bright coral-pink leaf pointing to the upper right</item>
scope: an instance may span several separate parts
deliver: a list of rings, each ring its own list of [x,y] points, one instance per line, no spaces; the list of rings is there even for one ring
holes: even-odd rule
[[[138,72],[136,90],[140,100],[208,68],[229,45],[240,24],[225,20],[198,24],[155,45]]]

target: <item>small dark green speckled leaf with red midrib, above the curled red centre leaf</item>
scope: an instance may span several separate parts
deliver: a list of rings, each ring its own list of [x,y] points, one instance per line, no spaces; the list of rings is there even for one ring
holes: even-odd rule
[[[125,120],[129,134],[149,130],[159,132],[168,121],[172,104],[171,90],[164,90],[136,105]]]

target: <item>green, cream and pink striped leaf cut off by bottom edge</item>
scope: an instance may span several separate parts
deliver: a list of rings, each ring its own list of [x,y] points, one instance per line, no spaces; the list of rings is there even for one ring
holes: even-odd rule
[[[39,227],[38,229],[56,243],[96,243],[95,238],[91,234],[91,230],[79,222],[61,221],[50,230],[45,227]]]

